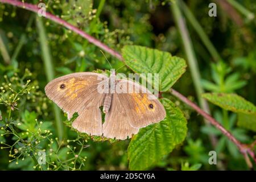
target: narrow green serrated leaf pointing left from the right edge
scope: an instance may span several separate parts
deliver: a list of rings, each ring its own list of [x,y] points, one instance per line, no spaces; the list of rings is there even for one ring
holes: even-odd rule
[[[203,97],[225,110],[235,113],[256,113],[256,107],[237,94],[205,93]]]

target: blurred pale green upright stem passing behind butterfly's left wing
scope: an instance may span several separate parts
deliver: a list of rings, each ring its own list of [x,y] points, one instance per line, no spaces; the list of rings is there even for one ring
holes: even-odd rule
[[[42,49],[42,59],[44,62],[44,70],[46,71],[47,81],[51,81],[53,80],[55,73],[53,69],[52,57],[51,57],[51,53],[47,43],[48,40],[47,40],[46,31],[44,30],[42,18],[38,17],[36,19],[36,26],[38,27],[39,42]],[[55,122],[56,122],[55,124],[56,124],[58,138],[59,140],[63,140],[64,126],[61,119],[60,110],[55,104],[53,104],[53,111],[55,113]]]

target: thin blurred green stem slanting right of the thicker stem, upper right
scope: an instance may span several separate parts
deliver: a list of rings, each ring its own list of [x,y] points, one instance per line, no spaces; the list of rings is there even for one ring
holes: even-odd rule
[[[180,2],[181,9],[183,9],[186,18],[189,20],[192,27],[195,29],[195,31],[201,38],[202,42],[204,43],[204,46],[207,47],[208,51],[210,52],[210,55],[212,55],[215,61],[221,60],[221,56],[218,54],[218,51],[213,46],[212,42],[210,42],[210,39],[208,38],[207,34],[205,34],[203,27],[201,27],[200,23],[197,21],[191,10],[189,10],[187,5],[185,5],[183,1]]]

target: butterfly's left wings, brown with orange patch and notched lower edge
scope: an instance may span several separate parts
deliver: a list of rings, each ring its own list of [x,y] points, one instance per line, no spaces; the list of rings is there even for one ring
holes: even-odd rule
[[[47,97],[68,113],[68,119],[74,113],[79,117],[72,126],[82,133],[102,134],[100,106],[103,105],[104,93],[98,92],[98,86],[108,77],[99,73],[72,73],[52,80],[46,85]]]

